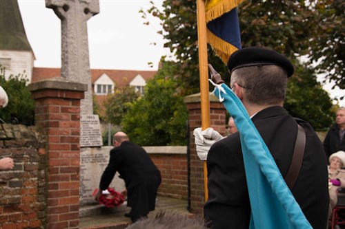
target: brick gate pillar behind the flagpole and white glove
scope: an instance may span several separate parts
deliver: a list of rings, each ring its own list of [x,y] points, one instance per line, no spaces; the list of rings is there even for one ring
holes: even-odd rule
[[[210,100],[210,126],[225,135],[226,131],[226,109],[223,104],[214,96],[209,96]],[[204,191],[204,165],[197,156],[195,149],[193,131],[201,127],[201,100],[200,94],[186,96],[184,98],[188,109],[189,123],[189,148],[190,148],[190,211],[202,214],[205,203]]]

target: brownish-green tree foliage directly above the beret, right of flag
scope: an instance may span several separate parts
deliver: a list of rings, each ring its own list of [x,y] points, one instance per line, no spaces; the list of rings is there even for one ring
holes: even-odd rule
[[[244,1],[239,6],[242,47],[270,47],[290,60],[307,54],[313,12],[305,1]]]

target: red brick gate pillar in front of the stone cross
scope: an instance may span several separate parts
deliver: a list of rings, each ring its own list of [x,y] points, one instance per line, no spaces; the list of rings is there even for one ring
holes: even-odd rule
[[[79,113],[88,85],[44,80],[29,86],[35,124],[46,135],[46,228],[79,226]]]

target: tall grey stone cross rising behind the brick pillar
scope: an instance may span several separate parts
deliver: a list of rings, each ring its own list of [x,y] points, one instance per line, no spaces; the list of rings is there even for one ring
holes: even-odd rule
[[[81,114],[92,114],[87,21],[99,13],[99,0],[46,0],[61,20],[61,77],[88,85]]]

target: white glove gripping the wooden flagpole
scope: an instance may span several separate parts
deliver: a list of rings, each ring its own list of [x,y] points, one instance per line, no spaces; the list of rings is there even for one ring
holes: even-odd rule
[[[207,153],[213,143],[223,139],[224,137],[220,135],[213,128],[208,127],[208,129],[201,131],[201,128],[196,128],[193,132],[195,136],[195,145],[197,148],[197,155],[200,160],[207,159]]]

